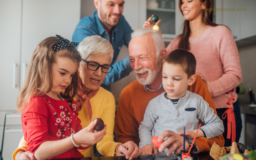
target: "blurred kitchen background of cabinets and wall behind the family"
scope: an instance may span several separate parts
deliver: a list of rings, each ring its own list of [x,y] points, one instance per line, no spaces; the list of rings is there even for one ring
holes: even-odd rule
[[[244,94],[239,94],[239,102],[243,106],[240,142],[249,144],[256,135],[256,107],[247,105],[250,102],[249,88],[252,89],[251,95],[256,92],[256,1],[214,2],[214,8],[246,9],[239,12],[216,11],[214,22],[231,29],[238,47],[243,74],[242,90],[244,88],[245,91]],[[13,112],[16,110],[17,95],[36,45],[46,37],[56,34],[71,41],[79,20],[84,16],[92,16],[94,11],[96,8],[93,0],[0,0],[0,147],[3,146],[0,150],[4,160],[12,158],[23,135],[20,113]],[[144,21],[152,14],[158,15],[162,20],[159,27],[167,46],[182,32],[184,18],[180,13],[178,0],[125,0],[123,15],[133,30],[142,28]],[[123,46],[117,61],[126,56],[128,49]],[[116,104],[122,89],[135,79],[132,72],[111,84]]]

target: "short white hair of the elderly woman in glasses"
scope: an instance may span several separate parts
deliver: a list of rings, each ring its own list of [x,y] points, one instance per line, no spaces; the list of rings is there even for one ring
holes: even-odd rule
[[[77,50],[80,52],[84,60],[93,54],[109,54],[111,61],[114,56],[114,50],[110,42],[98,35],[85,37],[84,40],[78,45]]]

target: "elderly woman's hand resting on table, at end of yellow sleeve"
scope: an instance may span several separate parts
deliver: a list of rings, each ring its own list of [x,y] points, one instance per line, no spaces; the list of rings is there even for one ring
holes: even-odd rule
[[[142,154],[140,148],[133,141],[128,141],[124,144],[116,145],[115,156],[125,156],[126,159],[132,160]]]

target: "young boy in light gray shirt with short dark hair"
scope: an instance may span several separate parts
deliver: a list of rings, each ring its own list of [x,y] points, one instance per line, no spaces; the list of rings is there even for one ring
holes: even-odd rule
[[[196,93],[187,90],[196,80],[196,58],[182,49],[171,52],[163,62],[163,87],[166,92],[149,101],[144,119],[139,127],[140,149],[149,154],[153,145],[151,138],[159,136],[165,130],[173,131],[183,136],[211,139],[224,132],[223,122],[209,104]],[[167,148],[164,150],[167,151]]]

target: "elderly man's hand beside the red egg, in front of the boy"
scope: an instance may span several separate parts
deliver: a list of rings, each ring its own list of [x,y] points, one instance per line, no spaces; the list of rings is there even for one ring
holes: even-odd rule
[[[166,140],[164,138],[168,137]],[[173,131],[164,131],[158,137],[157,141],[160,143],[164,140],[164,143],[158,148],[159,152],[163,152],[164,148],[169,148],[166,155],[170,156],[174,151],[175,154],[180,154],[183,150],[183,137]],[[185,150],[188,150],[188,143],[185,142]]]

